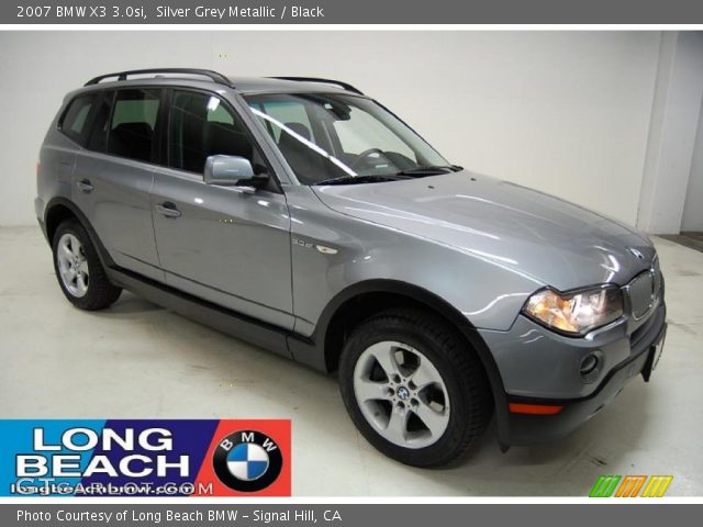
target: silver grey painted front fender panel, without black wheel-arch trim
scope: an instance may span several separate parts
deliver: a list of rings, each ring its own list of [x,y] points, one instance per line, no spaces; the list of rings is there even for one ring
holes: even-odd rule
[[[295,332],[310,336],[332,299],[370,280],[413,284],[476,328],[506,330],[543,287],[492,258],[359,220],[324,205],[306,187],[287,192],[291,214]],[[304,205],[303,205],[304,203]]]

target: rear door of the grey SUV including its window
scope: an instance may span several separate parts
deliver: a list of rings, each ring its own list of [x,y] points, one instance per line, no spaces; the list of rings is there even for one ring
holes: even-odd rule
[[[161,281],[149,192],[160,155],[164,93],[160,88],[102,93],[72,175],[74,202],[115,264]]]

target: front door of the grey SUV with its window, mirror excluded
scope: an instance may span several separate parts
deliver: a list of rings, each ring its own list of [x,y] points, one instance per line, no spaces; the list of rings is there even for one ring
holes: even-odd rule
[[[246,157],[271,173],[246,125],[217,94],[187,89],[172,90],[168,121],[169,166],[157,169],[152,195],[166,282],[292,328],[286,195],[276,184],[249,192],[203,182],[215,154]]]

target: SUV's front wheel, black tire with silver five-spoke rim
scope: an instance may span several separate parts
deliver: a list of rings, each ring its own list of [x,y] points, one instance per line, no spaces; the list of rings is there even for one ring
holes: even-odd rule
[[[342,351],[339,385],[364,437],[415,467],[460,459],[492,412],[473,350],[440,317],[422,311],[387,311],[359,325]]]

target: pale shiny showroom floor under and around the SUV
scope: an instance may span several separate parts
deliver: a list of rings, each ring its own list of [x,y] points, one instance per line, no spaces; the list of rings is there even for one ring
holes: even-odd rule
[[[634,380],[574,435],[501,453],[493,431],[458,468],[417,470],[357,434],[334,378],[131,294],[74,309],[38,228],[0,228],[0,418],[290,418],[294,495],[574,495],[600,474],[673,474],[703,495],[703,254],[655,238],[669,334],[652,381]]]

